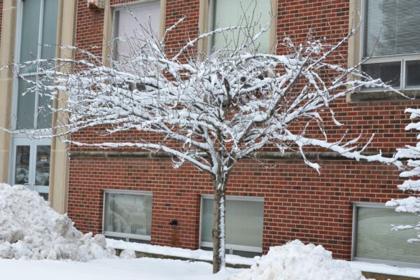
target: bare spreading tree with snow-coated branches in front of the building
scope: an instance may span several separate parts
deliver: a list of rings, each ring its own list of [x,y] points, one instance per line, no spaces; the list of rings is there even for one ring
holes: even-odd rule
[[[38,64],[36,77],[22,76],[31,85],[28,92],[66,92],[62,123],[52,130],[32,132],[35,137],[64,137],[97,127],[108,134],[106,141],[66,142],[102,148],[139,148],[166,153],[174,167],[188,162],[207,172],[214,185],[214,272],[225,266],[225,193],[230,172],[239,160],[252,158],[256,151],[275,148],[282,153],[299,151],[302,160],[318,172],[320,166],[305,157],[305,151],[320,148],[355,160],[378,161],[400,167],[392,158],[363,153],[370,140],[330,139],[324,122],[336,120],[330,105],[361,87],[386,87],[358,71],[360,65],[331,64],[340,57],[354,31],[334,44],[309,37],[295,45],[284,38],[281,55],[258,52],[258,38],[269,29],[253,32],[246,27],[225,27],[201,34],[174,50],[166,38],[183,19],[165,32],[159,41],[148,27],[126,38],[131,54],[106,66],[102,57],[74,48],[83,59],[52,59],[58,66],[36,60],[13,65],[20,69]],[[148,33],[148,36],[141,34]],[[200,53],[197,43],[215,34],[237,34],[221,50]],[[332,57],[335,57],[332,59]],[[69,66],[74,71],[66,71]],[[19,74],[19,71],[17,71]],[[392,90],[392,89],[391,89]],[[112,141],[120,132],[139,132],[136,139]],[[315,132],[316,131],[316,132]],[[26,133],[29,133],[26,131]],[[153,135],[153,137],[150,137]],[[360,141],[362,143],[360,143]]]

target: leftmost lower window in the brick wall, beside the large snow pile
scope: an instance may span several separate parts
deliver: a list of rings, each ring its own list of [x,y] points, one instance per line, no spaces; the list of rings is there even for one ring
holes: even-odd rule
[[[106,237],[150,243],[152,194],[105,190],[103,226]]]

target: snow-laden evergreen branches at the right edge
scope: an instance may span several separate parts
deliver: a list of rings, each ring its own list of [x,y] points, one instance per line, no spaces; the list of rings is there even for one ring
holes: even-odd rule
[[[405,113],[411,113],[410,119],[412,120],[420,118],[420,109],[406,109]],[[420,121],[410,123],[405,127],[405,130],[420,130]],[[417,139],[420,139],[420,135]],[[417,143],[416,146],[399,148],[395,158],[409,159],[407,160],[409,171],[401,172],[400,177],[414,177],[404,181],[398,188],[407,193],[418,193],[420,191],[420,143]],[[401,200],[391,200],[386,202],[386,206],[396,207],[395,211],[397,212],[420,215],[420,197],[409,196]],[[416,225],[393,225],[393,230],[420,230],[420,221]],[[408,241],[410,243],[419,243],[420,234],[416,238],[408,239]]]

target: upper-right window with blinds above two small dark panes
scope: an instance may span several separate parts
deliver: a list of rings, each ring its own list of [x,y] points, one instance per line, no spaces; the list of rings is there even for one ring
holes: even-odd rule
[[[418,0],[365,0],[362,70],[398,90],[420,89]],[[369,89],[364,89],[369,91]]]

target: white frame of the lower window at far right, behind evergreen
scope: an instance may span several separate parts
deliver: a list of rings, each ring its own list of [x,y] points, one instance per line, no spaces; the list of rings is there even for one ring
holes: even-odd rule
[[[353,202],[353,223],[352,223],[352,232],[351,232],[351,260],[357,262],[372,262],[372,263],[381,263],[385,265],[393,265],[397,267],[420,267],[419,263],[416,262],[399,262],[394,260],[379,260],[374,258],[359,258],[356,257],[356,232],[357,232],[357,218],[358,218],[358,208],[381,208],[381,209],[395,209],[395,207],[386,207],[384,203],[377,202]],[[390,225],[391,226],[391,225]]]

